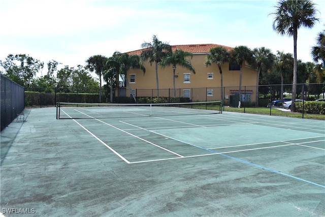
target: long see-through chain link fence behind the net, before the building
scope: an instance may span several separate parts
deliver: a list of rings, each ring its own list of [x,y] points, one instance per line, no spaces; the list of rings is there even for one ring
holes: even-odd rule
[[[222,100],[225,106],[268,107],[272,101],[283,102],[291,98],[292,84],[272,84],[259,86],[224,86],[200,88],[128,89],[118,88],[112,91],[113,103],[164,103],[164,102],[205,102]],[[56,102],[99,103],[98,89],[72,89],[70,92],[58,92],[55,87],[47,92],[40,88],[25,91],[26,107],[54,106]],[[258,93],[256,95],[256,92]],[[282,97],[281,97],[282,92]],[[315,101],[324,98],[325,83],[297,84],[296,99]],[[135,101],[136,99],[136,101]],[[282,101],[281,101],[282,100]],[[110,89],[102,89],[102,102],[110,103]],[[277,105],[280,105],[278,103]]]

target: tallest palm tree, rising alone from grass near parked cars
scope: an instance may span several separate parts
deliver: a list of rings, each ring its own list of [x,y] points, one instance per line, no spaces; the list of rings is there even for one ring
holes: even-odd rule
[[[311,28],[318,20],[316,18],[315,4],[309,0],[280,0],[272,13],[275,16],[273,29],[280,35],[294,37],[294,76],[293,76],[293,102],[297,94],[297,36],[301,26]],[[296,111],[295,103],[291,111]]]

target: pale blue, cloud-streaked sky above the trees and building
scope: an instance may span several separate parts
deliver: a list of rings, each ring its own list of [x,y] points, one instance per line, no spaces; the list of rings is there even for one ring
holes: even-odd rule
[[[294,52],[293,37],[272,27],[278,1],[174,0],[0,0],[0,59],[27,54],[60,67],[84,66],[92,55],[141,49],[156,35],[170,45],[245,45]],[[325,29],[325,1],[314,27],[298,30],[298,59],[312,61],[310,50]]]

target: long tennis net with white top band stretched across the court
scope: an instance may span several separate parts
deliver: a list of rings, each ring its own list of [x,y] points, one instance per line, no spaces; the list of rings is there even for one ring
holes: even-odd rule
[[[56,103],[56,119],[123,118],[222,113],[222,101],[156,104]]]

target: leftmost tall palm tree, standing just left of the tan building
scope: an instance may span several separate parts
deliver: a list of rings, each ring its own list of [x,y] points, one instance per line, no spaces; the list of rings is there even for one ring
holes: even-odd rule
[[[102,74],[107,61],[107,57],[103,55],[93,55],[86,60],[86,69],[95,72],[100,78],[100,103],[102,103]]]

